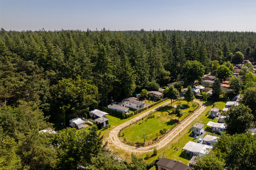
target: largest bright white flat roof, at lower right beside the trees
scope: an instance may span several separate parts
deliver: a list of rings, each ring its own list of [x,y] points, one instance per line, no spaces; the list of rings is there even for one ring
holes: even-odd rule
[[[212,149],[212,146],[206,144],[194,143],[193,141],[188,141],[187,144],[182,148],[185,151],[193,152],[194,154],[205,155],[207,150]]]

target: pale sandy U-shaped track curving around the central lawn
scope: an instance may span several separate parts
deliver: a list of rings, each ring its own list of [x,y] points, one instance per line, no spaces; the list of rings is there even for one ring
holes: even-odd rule
[[[171,101],[167,101],[166,103],[163,103],[160,106],[155,107],[154,109],[151,109],[148,112],[145,112],[144,114],[141,114],[138,117],[133,118],[132,120],[126,121],[126,123],[116,126],[114,129],[112,129],[112,131],[110,131],[110,135],[109,135],[110,141],[113,144],[115,144],[115,146],[117,146],[118,148],[124,149],[126,151],[130,151],[130,152],[152,152],[154,150],[154,148],[161,149],[161,148],[165,147],[166,144],[168,144],[174,137],[179,135],[179,133],[181,131],[183,131],[183,129],[185,129],[185,127],[187,127],[188,124],[190,124],[195,118],[197,118],[198,115],[200,115],[205,110],[206,107],[203,105],[203,103],[201,101],[195,101],[195,102],[199,104],[200,108],[196,112],[194,112],[194,114],[190,115],[190,117],[183,120],[182,123],[180,123],[179,125],[174,127],[174,129],[172,129],[172,131],[170,131],[168,134],[166,134],[165,137],[163,137],[160,141],[158,141],[155,144],[151,144],[149,146],[145,146],[145,147],[141,147],[141,148],[129,146],[119,140],[118,133],[123,127],[126,127],[130,123],[133,123],[133,122],[139,120],[141,117],[148,115],[149,112],[155,111],[158,107],[168,105],[169,103],[171,103]]]

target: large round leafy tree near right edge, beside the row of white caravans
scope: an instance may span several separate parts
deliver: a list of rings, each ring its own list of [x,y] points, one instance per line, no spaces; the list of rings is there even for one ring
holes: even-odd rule
[[[230,107],[229,112],[224,118],[227,123],[226,131],[229,134],[242,134],[253,125],[254,116],[251,109],[244,104],[239,104],[235,107]]]

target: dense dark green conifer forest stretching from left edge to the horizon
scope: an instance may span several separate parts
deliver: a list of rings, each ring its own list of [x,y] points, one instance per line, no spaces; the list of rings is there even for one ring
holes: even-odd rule
[[[211,72],[211,61],[237,63],[236,52],[256,62],[256,33],[1,29],[0,151],[9,153],[0,163],[8,163],[9,169],[91,165],[102,149],[96,130],[76,133],[66,129],[48,137],[51,142],[41,140],[46,137],[35,131],[61,129],[71,118],[86,117],[90,109],[180,80],[188,60],[202,63],[205,73]],[[70,134],[74,138],[65,138]],[[98,146],[87,143],[88,138]],[[56,150],[48,147],[52,142]],[[64,142],[77,148],[64,152]],[[79,149],[81,144],[87,151]],[[81,158],[83,153],[89,154]],[[139,160],[133,157],[133,161]],[[126,166],[116,163],[121,169]]]

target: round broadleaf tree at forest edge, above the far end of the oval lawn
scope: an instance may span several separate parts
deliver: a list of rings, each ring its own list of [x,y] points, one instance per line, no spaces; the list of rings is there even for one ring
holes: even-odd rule
[[[199,61],[187,61],[183,66],[182,72],[185,80],[194,86],[194,81],[204,77],[204,66]]]

